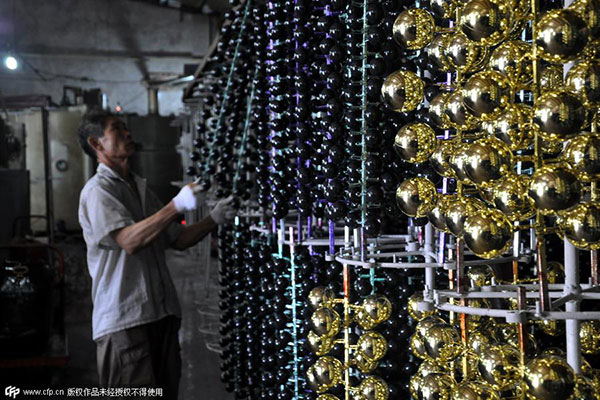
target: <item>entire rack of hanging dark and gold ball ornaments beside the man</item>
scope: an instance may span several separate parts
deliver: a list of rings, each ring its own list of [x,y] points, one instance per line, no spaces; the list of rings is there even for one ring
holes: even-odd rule
[[[255,1],[189,106],[227,389],[600,398],[600,1]]]

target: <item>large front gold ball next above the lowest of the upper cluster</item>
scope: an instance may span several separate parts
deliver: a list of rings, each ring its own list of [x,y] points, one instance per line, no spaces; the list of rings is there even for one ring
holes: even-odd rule
[[[466,151],[464,170],[474,184],[492,185],[512,170],[512,152],[498,138],[479,139]]]

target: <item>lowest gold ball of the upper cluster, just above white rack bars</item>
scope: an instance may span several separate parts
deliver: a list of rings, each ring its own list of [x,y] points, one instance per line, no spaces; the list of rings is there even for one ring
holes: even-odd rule
[[[467,217],[463,236],[476,256],[495,258],[510,248],[513,225],[502,211],[490,208]]]

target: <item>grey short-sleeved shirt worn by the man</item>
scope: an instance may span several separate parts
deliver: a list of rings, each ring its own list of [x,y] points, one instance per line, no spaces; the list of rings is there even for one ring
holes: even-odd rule
[[[135,187],[99,164],[79,198],[79,223],[92,277],[94,339],[167,315],[181,317],[165,261],[165,249],[177,239],[181,226],[173,222],[150,245],[132,255],[110,235],[162,207],[145,179],[134,174],[133,180]]]

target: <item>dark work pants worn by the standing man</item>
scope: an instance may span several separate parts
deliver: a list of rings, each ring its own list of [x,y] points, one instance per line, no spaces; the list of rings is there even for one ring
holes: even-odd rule
[[[96,339],[100,386],[162,388],[163,399],[177,400],[181,320],[168,316]]]

